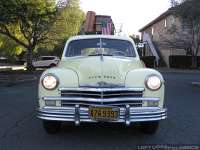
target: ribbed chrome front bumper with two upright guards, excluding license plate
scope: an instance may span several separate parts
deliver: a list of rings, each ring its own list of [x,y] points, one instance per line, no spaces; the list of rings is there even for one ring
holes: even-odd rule
[[[89,108],[75,105],[75,107],[44,107],[38,109],[38,118],[43,120],[75,122],[96,122],[89,116]],[[120,107],[120,116],[117,121],[130,125],[133,122],[158,121],[167,118],[167,109],[159,107]]]

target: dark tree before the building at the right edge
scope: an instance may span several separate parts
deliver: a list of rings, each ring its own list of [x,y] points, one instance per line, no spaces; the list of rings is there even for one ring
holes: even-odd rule
[[[182,21],[185,31],[174,30],[175,46],[182,46],[193,56],[193,67],[197,67],[197,55],[200,51],[200,1],[171,0],[173,10]],[[178,38],[176,38],[178,37]]]

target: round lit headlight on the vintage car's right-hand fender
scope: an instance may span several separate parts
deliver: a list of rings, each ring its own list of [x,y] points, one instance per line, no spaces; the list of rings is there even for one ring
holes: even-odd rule
[[[148,76],[146,79],[146,87],[152,91],[159,90],[161,85],[162,81],[157,75]]]

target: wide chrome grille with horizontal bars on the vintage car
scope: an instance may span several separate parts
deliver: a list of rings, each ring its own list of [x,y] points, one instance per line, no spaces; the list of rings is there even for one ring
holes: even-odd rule
[[[61,104],[142,107],[143,88],[60,88]]]

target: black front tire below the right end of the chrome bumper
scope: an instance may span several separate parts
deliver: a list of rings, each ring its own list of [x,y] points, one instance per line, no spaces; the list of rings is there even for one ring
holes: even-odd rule
[[[158,128],[159,128],[159,121],[140,123],[140,130],[146,134],[155,134]]]

